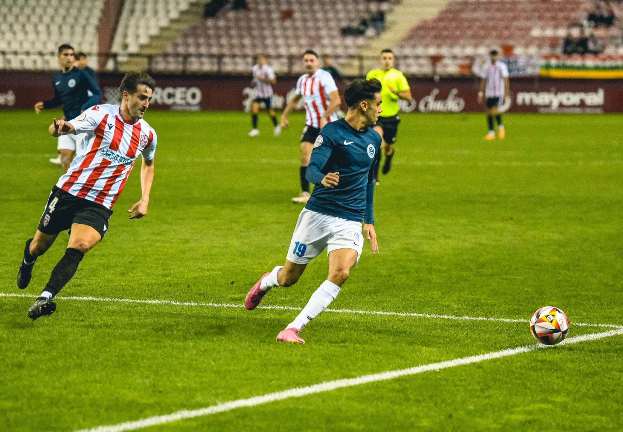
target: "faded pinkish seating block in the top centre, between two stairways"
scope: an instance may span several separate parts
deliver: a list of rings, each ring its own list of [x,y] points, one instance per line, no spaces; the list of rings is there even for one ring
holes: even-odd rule
[[[196,54],[186,62],[188,72],[216,72],[218,62],[226,73],[248,74],[254,56],[300,55],[315,49],[329,55],[354,55],[366,37],[343,36],[341,28],[357,24],[366,13],[358,0],[249,0],[247,10],[221,10],[216,17],[200,19],[172,42],[151,68],[158,72],[181,70],[182,55]],[[226,56],[222,59],[206,55]],[[288,70],[287,57],[271,60],[275,72]],[[339,61],[338,61],[339,63]],[[293,72],[302,72],[300,62]]]

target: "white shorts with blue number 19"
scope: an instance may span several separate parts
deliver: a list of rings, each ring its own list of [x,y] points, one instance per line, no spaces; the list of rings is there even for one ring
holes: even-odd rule
[[[336,249],[356,250],[359,261],[363,250],[361,222],[303,209],[285,258],[295,264],[307,264],[325,248],[327,255]]]

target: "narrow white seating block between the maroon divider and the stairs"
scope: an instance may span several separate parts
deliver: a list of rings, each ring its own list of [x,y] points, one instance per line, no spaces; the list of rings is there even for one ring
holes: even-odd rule
[[[179,14],[188,9],[191,0],[125,0],[113,39],[112,52],[136,54],[150,38],[159,34]]]

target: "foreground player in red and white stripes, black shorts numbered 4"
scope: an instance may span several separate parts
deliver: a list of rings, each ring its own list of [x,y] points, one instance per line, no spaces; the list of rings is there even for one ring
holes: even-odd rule
[[[56,310],[52,298],[74,276],[88,250],[97,245],[108,230],[115,200],[121,194],[138,154],[141,166],[141,199],[128,212],[130,219],[147,214],[154,176],[156,133],[143,120],[156,83],[142,72],[126,73],[119,92],[121,106],[96,105],[74,120],[54,119],[52,136],[85,133],[87,145],[78,151],[69,171],[52,188],[34,238],[27,240],[17,287],[31,281],[37,256],[43,255],[61,231],[70,230],[65,255],[52,270],[41,295],[28,310],[32,321]]]

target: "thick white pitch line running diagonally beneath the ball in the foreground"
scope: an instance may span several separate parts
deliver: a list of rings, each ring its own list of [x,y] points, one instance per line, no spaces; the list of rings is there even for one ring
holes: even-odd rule
[[[586,334],[584,336],[574,336],[563,340],[559,345],[577,344],[578,342],[584,342],[586,340],[596,340],[603,337],[611,337],[623,334],[623,327],[617,330],[611,330],[601,333]],[[371,375],[363,375],[357,378],[345,378],[343,380],[326,381],[320,384],[310,385],[308,387],[295,387],[289,390],[283,390],[283,392],[268,393],[262,396],[255,396],[246,399],[237,399],[217,405],[207,406],[206,408],[199,408],[197,410],[182,410],[176,411],[167,415],[159,415],[141,420],[126,421],[125,423],[119,423],[118,425],[110,426],[97,426],[92,429],[82,429],[78,432],[123,432],[132,431],[136,429],[146,428],[148,426],[162,425],[163,423],[171,423],[173,421],[184,420],[186,418],[195,418],[200,416],[206,416],[216,413],[222,413],[224,411],[235,410],[236,408],[243,408],[245,406],[256,406],[264,403],[274,402],[277,400],[284,400],[289,398],[300,398],[307,395],[313,395],[315,393],[330,392],[337,388],[353,387],[355,385],[366,384],[370,382],[392,380],[394,378],[405,377],[407,375],[417,375],[418,373],[429,372],[431,370],[447,369],[455,366],[468,365],[472,363],[483,362],[485,360],[500,359],[501,357],[508,357],[510,355],[521,354],[523,352],[530,352],[537,349],[549,348],[547,345],[526,345],[523,347],[513,349],[503,349],[500,351],[489,352],[487,354],[472,355],[470,357],[462,357],[461,359],[447,360],[445,362],[431,363],[427,365],[421,365],[416,367],[410,367],[408,369],[391,370],[389,372],[373,373]]]

